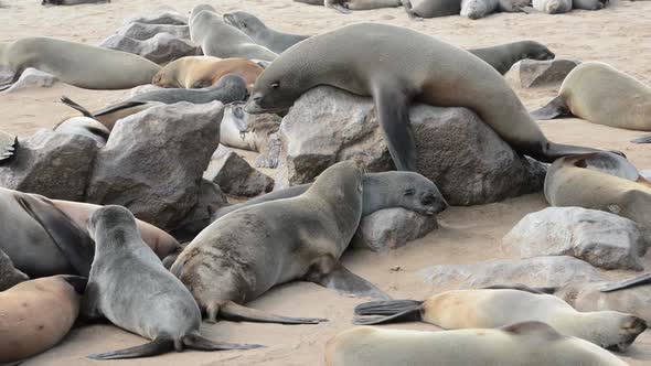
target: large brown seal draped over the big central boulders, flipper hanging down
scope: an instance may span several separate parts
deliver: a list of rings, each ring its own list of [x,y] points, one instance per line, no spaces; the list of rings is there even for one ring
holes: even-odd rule
[[[327,57],[332,50],[338,50],[337,57]],[[245,110],[287,109],[320,84],[373,97],[398,170],[416,171],[408,114],[412,100],[470,108],[515,151],[544,162],[597,151],[547,140],[504,77],[479,57],[429,35],[386,24],[352,24],[290,47],[258,77]]]

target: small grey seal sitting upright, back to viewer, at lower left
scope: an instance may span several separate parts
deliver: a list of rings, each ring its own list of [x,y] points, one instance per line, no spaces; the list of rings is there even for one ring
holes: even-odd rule
[[[168,272],[142,241],[136,218],[125,207],[105,206],[88,220],[96,250],[82,314],[113,324],[152,342],[90,355],[93,359],[150,357],[183,347],[202,351],[249,349],[210,341],[199,333],[201,312],[192,294]],[[137,281],[134,281],[137,279]]]

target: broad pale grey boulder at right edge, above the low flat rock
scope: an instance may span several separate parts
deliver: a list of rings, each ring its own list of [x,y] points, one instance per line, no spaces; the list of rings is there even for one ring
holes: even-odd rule
[[[502,245],[521,258],[572,256],[604,269],[642,270],[643,230],[634,222],[601,211],[547,207],[524,216]]]

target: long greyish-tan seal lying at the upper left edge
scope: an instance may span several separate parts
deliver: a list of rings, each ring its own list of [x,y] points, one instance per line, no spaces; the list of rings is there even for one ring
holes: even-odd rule
[[[68,55],[68,57],[62,57]],[[15,73],[28,67],[86,89],[128,89],[149,84],[160,66],[135,54],[44,36],[0,44],[0,65]]]

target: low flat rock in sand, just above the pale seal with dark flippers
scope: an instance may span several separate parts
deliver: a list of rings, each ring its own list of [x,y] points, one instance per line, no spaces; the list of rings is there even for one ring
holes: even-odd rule
[[[418,276],[433,286],[483,288],[494,284],[561,287],[570,282],[596,282],[599,271],[573,257],[535,257],[472,265],[441,265],[421,269]]]

